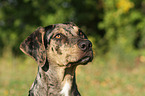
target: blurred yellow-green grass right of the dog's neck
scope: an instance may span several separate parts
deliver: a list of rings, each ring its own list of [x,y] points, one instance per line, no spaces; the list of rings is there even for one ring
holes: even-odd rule
[[[95,58],[81,66],[77,81],[82,96],[144,96],[145,65],[115,66],[111,60]],[[121,64],[121,63],[120,63]]]

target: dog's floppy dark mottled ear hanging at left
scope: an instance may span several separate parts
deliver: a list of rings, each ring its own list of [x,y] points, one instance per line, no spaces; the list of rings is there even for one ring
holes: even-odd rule
[[[39,27],[20,45],[20,49],[25,54],[34,58],[40,67],[43,67],[46,62],[46,50],[44,46],[45,33],[45,29]]]

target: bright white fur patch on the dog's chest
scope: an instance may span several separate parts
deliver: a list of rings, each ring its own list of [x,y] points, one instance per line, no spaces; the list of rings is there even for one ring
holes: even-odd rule
[[[66,81],[60,94],[62,94],[63,96],[69,96],[70,90],[71,90],[70,84]]]

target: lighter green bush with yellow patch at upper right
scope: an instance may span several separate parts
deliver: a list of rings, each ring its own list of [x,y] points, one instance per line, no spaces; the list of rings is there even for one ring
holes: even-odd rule
[[[131,0],[104,0],[104,17],[99,29],[105,29],[104,38],[109,47],[116,44],[125,48],[143,48],[145,19],[143,7],[138,8]],[[139,1],[140,2],[140,1]],[[143,3],[144,1],[140,2]],[[144,5],[143,5],[144,6]]]

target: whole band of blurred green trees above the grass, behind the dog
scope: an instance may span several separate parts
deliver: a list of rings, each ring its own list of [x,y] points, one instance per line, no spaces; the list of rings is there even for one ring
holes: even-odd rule
[[[70,21],[95,38],[93,41],[95,48],[98,48],[97,53],[106,53],[116,44],[124,48],[144,48],[144,2],[3,0],[0,2],[0,48],[12,47],[17,54],[20,42],[38,26]]]

